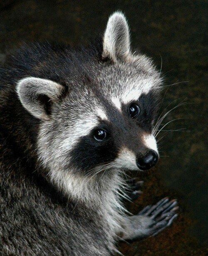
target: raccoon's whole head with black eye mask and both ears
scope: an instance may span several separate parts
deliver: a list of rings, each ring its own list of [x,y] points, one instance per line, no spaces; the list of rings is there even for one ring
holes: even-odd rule
[[[60,183],[143,171],[158,161],[154,122],[161,78],[149,58],[131,53],[124,15],[111,15],[100,50],[90,47],[62,51],[56,73],[65,85],[39,77],[17,84],[22,105],[41,120],[39,158]]]

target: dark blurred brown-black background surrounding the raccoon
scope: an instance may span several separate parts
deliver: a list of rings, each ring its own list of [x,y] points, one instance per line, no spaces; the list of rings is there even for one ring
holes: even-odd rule
[[[207,255],[207,17],[206,0],[5,0],[0,2],[0,61],[26,41],[86,43],[104,31],[115,10],[124,11],[133,48],[154,59],[165,78],[163,114],[181,102],[158,135],[161,159],[146,175],[137,213],[163,196],[177,198],[179,216],[153,238],[120,243],[126,256]],[[171,85],[173,84],[173,85]],[[171,85],[171,86],[168,86]],[[182,119],[181,119],[182,118]],[[162,127],[162,126],[161,126]],[[181,130],[182,129],[182,130]]]

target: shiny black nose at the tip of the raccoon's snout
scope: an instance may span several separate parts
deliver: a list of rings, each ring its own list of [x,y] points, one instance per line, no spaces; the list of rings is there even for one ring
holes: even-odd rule
[[[149,170],[156,165],[158,161],[158,154],[154,150],[150,150],[143,157],[139,157],[136,161],[140,170]]]

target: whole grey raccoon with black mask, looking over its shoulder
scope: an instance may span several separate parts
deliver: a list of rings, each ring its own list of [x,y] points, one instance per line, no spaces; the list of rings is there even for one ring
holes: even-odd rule
[[[25,44],[0,69],[0,255],[107,256],[176,218],[126,213],[125,171],[156,165],[162,79],[123,13],[87,46]]]

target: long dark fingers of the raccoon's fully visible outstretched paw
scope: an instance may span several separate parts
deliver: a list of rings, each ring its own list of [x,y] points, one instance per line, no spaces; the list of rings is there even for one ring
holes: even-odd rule
[[[149,235],[156,236],[164,228],[171,225],[178,216],[177,200],[169,201],[169,198],[163,198],[155,205],[148,205],[141,210],[138,215],[149,217],[153,223],[149,226]]]

